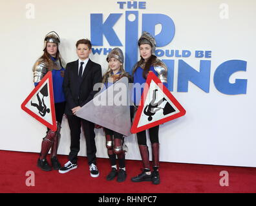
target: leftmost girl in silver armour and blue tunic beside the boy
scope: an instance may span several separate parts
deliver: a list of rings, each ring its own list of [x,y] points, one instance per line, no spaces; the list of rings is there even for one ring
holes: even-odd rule
[[[58,170],[61,165],[57,158],[57,150],[60,138],[61,121],[65,109],[65,96],[63,93],[63,77],[65,69],[59,53],[59,36],[56,32],[50,32],[45,37],[45,46],[43,55],[37,59],[33,67],[34,85],[37,86],[48,71],[52,72],[52,84],[54,90],[54,106],[57,121],[57,131],[47,128],[47,135],[43,138],[41,144],[41,153],[37,160],[37,166],[43,171]],[[34,104],[31,102],[31,104]],[[47,154],[50,151],[50,160],[52,167],[47,162]]]

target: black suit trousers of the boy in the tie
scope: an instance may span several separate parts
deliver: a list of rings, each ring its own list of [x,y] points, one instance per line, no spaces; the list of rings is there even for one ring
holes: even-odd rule
[[[96,145],[95,145],[95,133],[94,123],[84,120],[83,118],[76,117],[75,115],[67,115],[67,119],[70,127],[70,153],[69,160],[72,164],[76,164],[78,160],[78,152],[80,151],[80,135],[81,126],[85,135],[86,151],[88,164],[92,163],[96,165]]]

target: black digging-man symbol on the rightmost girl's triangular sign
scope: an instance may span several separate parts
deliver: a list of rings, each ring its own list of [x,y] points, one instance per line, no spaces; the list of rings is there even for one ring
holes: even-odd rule
[[[167,102],[167,100],[165,98],[160,99],[158,102],[155,103],[156,101],[156,91],[158,91],[158,89],[155,89],[153,91],[153,98],[151,100],[151,102],[149,103],[149,105],[145,106],[144,109],[144,114],[149,116],[147,118],[147,120],[151,121],[153,119],[153,115],[155,115],[155,113],[157,111],[159,111],[160,109],[163,109],[163,114],[164,115],[168,115],[169,113],[172,113],[175,111],[175,109],[171,106],[171,104],[169,104],[169,102]],[[165,104],[164,108],[160,108],[158,107],[158,105],[162,104],[162,102],[166,101],[167,103]]]

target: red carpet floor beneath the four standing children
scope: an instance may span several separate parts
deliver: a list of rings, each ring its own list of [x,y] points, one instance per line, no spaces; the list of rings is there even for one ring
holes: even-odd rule
[[[131,177],[140,173],[141,161],[127,160],[127,180],[122,183],[105,180],[110,171],[109,160],[98,158],[100,176],[91,178],[85,157],[79,157],[78,168],[66,174],[41,171],[36,165],[37,153],[0,151],[0,192],[85,192],[85,193],[195,193],[195,192],[256,192],[256,168],[215,165],[175,164],[160,162],[160,185],[151,182],[133,183]],[[67,156],[59,155],[65,164]],[[35,186],[28,187],[27,171],[35,174]],[[220,186],[220,171],[228,171],[229,186]]]

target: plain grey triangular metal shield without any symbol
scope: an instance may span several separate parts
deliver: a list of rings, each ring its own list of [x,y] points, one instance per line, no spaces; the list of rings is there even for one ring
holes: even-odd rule
[[[131,135],[129,97],[128,78],[123,77],[109,88],[102,88],[96,97],[76,112],[76,115],[129,136]]]

